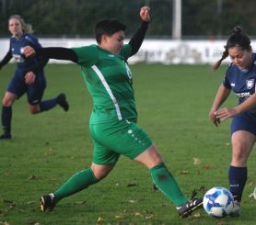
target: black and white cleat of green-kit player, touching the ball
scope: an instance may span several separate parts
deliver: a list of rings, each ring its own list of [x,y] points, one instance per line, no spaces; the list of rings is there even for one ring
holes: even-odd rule
[[[181,218],[187,218],[198,208],[203,208],[202,198],[192,198],[180,207],[176,207]]]

